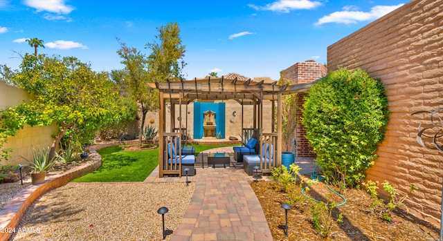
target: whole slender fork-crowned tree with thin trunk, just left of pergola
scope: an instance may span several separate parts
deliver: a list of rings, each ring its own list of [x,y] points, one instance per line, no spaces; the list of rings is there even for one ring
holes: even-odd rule
[[[181,45],[180,29],[177,23],[168,23],[166,26],[157,28],[159,43],[146,44],[152,53],[146,57],[136,48],[117,39],[120,44],[118,55],[123,59],[125,65],[122,79],[126,83],[128,93],[142,114],[141,124],[138,131],[138,146],[142,145],[143,128],[145,126],[146,114],[149,111],[159,109],[159,93],[157,90],[147,86],[154,81],[164,82],[167,79],[181,80],[181,71],[186,63],[183,61],[185,46]],[[117,74],[117,73],[114,73]]]

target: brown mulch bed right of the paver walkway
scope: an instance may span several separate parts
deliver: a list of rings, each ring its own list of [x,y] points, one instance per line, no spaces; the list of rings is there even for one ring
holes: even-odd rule
[[[370,208],[371,200],[363,190],[348,189],[345,191],[347,203],[332,210],[332,226],[326,238],[322,238],[314,229],[311,222],[311,202],[301,196],[300,201],[288,211],[288,237],[284,235],[285,217],[281,204],[287,202],[288,195],[275,191],[275,182],[251,182],[274,240],[438,240],[440,230],[428,222],[424,222],[408,214],[403,209],[392,213],[393,222],[383,220],[381,209]],[[343,202],[333,195],[327,186],[318,183],[311,186],[311,197],[325,202]],[[343,215],[343,222],[335,222],[339,213]]]

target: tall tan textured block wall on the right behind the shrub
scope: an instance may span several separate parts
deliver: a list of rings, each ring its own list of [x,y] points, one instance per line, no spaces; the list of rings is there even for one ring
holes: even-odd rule
[[[362,68],[386,86],[391,112],[379,158],[368,179],[388,180],[419,218],[440,223],[443,153],[417,144],[416,110],[434,110],[443,102],[443,0],[411,1],[327,48],[327,66]],[[422,117],[422,118],[420,118]]]

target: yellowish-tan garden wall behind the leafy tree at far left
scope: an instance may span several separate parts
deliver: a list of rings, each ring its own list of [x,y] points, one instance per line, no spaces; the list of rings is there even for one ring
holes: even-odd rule
[[[17,106],[23,101],[29,100],[29,95],[26,91],[20,88],[6,85],[3,81],[0,81],[0,109],[4,110],[8,107]],[[58,131],[56,125],[43,126],[43,127],[30,127],[25,126],[20,130],[17,135],[8,137],[8,143],[4,144],[4,148],[12,148],[11,157],[8,161],[1,160],[0,164],[26,164],[25,157],[28,160],[32,160],[33,152],[32,148],[44,148],[51,146],[53,138],[51,135],[55,135]]]

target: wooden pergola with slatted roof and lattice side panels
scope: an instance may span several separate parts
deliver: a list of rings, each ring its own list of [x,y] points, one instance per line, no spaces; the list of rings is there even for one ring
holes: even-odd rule
[[[291,93],[302,93],[309,90],[314,83],[296,84],[296,85],[278,85],[277,81],[273,83],[264,83],[262,81],[240,81],[235,79],[211,78],[193,79],[187,81],[166,81],[148,84],[151,88],[159,90],[160,108],[159,108],[159,177],[163,175],[179,175],[181,176],[181,158],[179,162],[168,162],[167,146],[168,142],[172,143],[175,137],[181,138],[181,106],[186,104],[186,108],[190,102],[201,101],[225,101],[233,99],[242,106],[253,105],[253,127],[260,129],[263,124],[263,102],[270,101],[272,103],[272,124],[271,133],[261,133],[260,146],[266,141],[271,142],[273,146],[273,162],[266,162],[262,151],[260,154],[260,169],[264,173],[269,172],[272,166],[281,166],[282,154],[282,95]],[[165,130],[165,109],[167,99],[171,103],[171,130]],[[174,106],[179,105],[179,128],[174,128]],[[277,119],[275,119],[275,104],[277,105]],[[275,125],[276,124],[276,125]],[[275,127],[276,126],[276,130]],[[243,123],[242,123],[243,128]],[[174,129],[179,132],[174,132]],[[181,145],[181,142],[179,143]],[[179,146],[179,149],[181,146]],[[181,151],[180,151],[181,152]],[[179,153],[181,156],[181,153]]]

